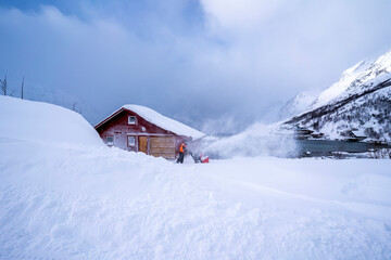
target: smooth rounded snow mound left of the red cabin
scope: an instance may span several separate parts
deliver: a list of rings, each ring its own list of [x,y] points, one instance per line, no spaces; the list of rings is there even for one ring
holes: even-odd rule
[[[103,145],[76,112],[61,106],[0,96],[0,136],[33,142]]]

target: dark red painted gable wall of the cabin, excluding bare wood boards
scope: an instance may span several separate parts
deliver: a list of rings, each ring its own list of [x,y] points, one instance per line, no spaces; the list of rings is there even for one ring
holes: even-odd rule
[[[128,123],[128,117],[136,117],[136,125]],[[138,147],[138,135],[167,135],[167,136],[176,136],[176,152],[179,151],[180,143],[186,140],[186,136],[177,135],[171,131],[162,129],[134,112],[123,110],[113,118],[109,119],[103,125],[97,128],[97,131],[104,143],[106,143],[106,136],[114,136],[114,146],[118,148],[123,148],[126,151],[137,152]],[[127,144],[128,133],[131,135],[136,135],[136,146],[129,147]]]

